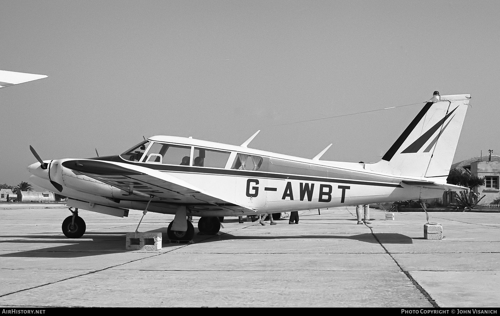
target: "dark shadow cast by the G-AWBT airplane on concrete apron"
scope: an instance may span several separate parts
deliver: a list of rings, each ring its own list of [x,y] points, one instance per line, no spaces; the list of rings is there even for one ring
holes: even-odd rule
[[[158,231],[162,229],[154,229]],[[165,228],[166,230],[166,228]],[[196,231],[197,229],[195,229]],[[165,232],[162,232],[162,239],[168,240]],[[16,240],[1,240],[0,243],[62,243],[63,245],[31,249],[25,251],[15,251],[11,253],[0,254],[0,257],[43,257],[43,258],[74,258],[92,255],[102,255],[116,252],[128,252],[125,250],[126,232],[89,232],[83,235],[81,239],[68,239],[63,235],[16,235],[0,236],[14,238],[29,238]],[[399,233],[375,233],[376,238],[371,233],[361,233],[356,235],[296,235],[296,236],[235,236],[230,233],[218,233],[216,235],[195,234],[193,241],[195,243],[244,240],[244,239],[350,239],[369,243],[413,243],[412,238]],[[51,239],[51,240],[46,240]],[[55,240],[54,240],[55,239]],[[418,239],[418,238],[417,238]],[[162,242],[162,248],[186,245],[185,243]],[[22,248],[22,246],[19,246]],[[152,251],[151,251],[152,252]]]

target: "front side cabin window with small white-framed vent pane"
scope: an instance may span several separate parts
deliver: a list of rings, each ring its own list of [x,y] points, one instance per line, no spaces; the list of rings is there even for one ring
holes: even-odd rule
[[[189,165],[190,146],[154,142],[146,155],[146,162]]]

